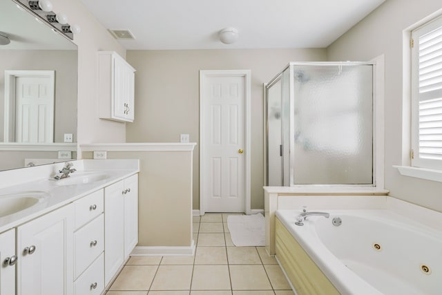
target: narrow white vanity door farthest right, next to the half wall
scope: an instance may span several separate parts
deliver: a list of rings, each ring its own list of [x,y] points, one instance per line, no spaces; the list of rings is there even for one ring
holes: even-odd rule
[[[138,174],[124,180],[124,258],[138,243]]]

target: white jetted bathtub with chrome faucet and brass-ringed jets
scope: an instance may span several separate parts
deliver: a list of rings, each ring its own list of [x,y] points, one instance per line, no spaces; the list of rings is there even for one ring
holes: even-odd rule
[[[304,226],[295,225],[297,210],[276,217],[338,293],[442,294],[442,231],[383,209],[327,212],[329,218],[310,216]],[[333,225],[334,218],[342,224]]]

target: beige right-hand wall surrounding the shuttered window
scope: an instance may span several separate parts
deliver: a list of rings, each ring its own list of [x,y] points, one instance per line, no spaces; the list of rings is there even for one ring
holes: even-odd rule
[[[410,164],[409,135],[403,133],[410,128],[408,103],[403,103],[409,99],[403,95],[403,30],[441,8],[440,0],[387,0],[327,48],[331,61],[385,55],[385,189],[391,196],[437,211],[442,211],[442,183],[401,176],[392,165]]]

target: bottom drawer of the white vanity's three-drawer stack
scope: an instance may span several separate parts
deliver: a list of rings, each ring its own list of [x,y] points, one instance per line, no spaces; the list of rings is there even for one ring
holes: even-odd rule
[[[74,283],[75,295],[99,295],[104,291],[104,254],[93,262]]]

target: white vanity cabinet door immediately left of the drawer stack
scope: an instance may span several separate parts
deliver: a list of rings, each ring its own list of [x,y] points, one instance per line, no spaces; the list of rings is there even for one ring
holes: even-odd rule
[[[17,227],[17,295],[73,294],[73,207]]]

